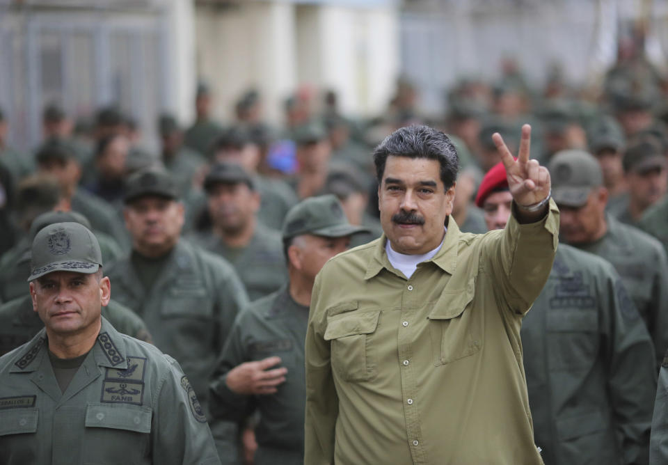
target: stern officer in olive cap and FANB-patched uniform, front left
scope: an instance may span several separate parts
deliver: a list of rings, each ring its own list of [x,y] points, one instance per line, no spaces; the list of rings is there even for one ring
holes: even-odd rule
[[[102,318],[111,284],[92,232],[42,229],[29,281],[45,328],[0,357],[1,463],[220,463],[179,364]]]

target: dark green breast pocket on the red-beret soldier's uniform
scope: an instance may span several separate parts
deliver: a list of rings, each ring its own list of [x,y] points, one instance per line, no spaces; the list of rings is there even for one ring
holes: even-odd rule
[[[548,313],[550,370],[586,369],[598,357],[596,310],[559,310]]]

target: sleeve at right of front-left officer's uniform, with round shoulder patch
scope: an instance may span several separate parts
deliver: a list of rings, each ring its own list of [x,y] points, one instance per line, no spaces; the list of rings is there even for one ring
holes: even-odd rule
[[[151,428],[154,464],[220,465],[205,413],[171,357],[155,393]]]

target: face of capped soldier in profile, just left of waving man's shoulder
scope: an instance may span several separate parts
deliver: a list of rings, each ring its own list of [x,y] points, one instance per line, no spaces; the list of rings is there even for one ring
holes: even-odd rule
[[[308,280],[315,280],[315,275],[334,255],[346,251],[350,246],[350,236],[322,237],[305,234],[292,241],[288,251],[292,267],[299,270]]]

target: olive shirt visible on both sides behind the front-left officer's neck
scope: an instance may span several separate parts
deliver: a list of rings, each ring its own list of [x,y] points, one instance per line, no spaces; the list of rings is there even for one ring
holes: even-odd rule
[[[152,342],[151,335],[140,317],[117,301],[110,300],[102,307],[105,317],[116,331],[138,340]],[[44,328],[44,323],[33,310],[30,294],[18,297],[0,305],[0,355],[4,355],[19,345],[25,344]]]

